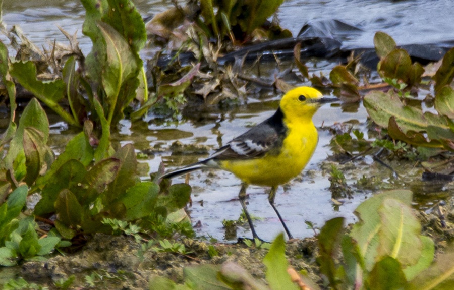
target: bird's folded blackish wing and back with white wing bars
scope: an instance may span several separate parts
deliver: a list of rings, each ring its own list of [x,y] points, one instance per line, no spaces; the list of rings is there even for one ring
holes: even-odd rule
[[[282,111],[219,148],[209,159],[249,159],[278,150],[286,136]]]

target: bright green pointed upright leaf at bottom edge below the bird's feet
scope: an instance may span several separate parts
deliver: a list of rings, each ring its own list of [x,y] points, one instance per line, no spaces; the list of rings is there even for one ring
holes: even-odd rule
[[[286,242],[282,233],[271,244],[268,254],[263,259],[263,264],[266,266],[266,280],[271,290],[298,289],[287,272],[289,263],[286,258]]]

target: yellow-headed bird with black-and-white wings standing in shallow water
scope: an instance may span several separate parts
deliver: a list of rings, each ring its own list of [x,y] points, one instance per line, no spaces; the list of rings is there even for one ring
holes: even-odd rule
[[[222,146],[209,158],[167,172],[161,178],[173,178],[203,168],[234,173],[243,182],[238,196],[254,239],[258,236],[246,208],[246,189],[249,184],[270,186],[268,201],[289,239],[293,239],[274,205],[276,190],[299,175],[309,162],[318,143],[312,116],[322,103],[335,100],[323,97],[314,88],[292,89],[282,97],[279,108],[270,118]]]

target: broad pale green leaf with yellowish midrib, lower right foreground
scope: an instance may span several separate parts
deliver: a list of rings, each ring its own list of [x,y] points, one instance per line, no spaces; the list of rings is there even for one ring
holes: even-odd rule
[[[415,265],[421,256],[421,224],[408,204],[388,198],[378,208],[381,227],[378,256],[390,256],[403,267]]]

